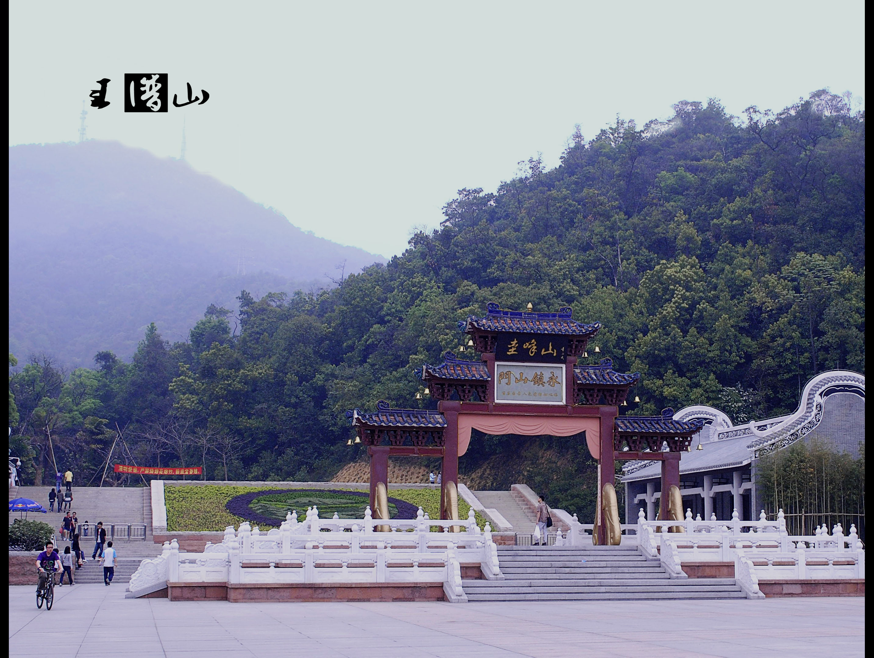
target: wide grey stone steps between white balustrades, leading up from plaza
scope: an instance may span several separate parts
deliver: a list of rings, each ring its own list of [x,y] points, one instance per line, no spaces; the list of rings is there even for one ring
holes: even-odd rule
[[[499,546],[504,580],[464,580],[470,601],[745,599],[734,578],[671,579],[636,546]]]

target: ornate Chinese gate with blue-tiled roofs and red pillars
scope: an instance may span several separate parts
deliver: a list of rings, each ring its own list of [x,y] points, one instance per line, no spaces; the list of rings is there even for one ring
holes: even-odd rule
[[[640,374],[614,371],[608,358],[600,364],[578,364],[588,356],[587,344],[600,323],[577,322],[568,307],[558,313],[531,313],[489,303],[484,317],[470,315],[459,322],[459,329],[481,353],[479,361],[463,361],[447,352],[442,364],[415,371],[430,396],[439,400],[437,411],[392,409],[380,401],[376,412],[346,412],[371,458],[371,509],[378,510],[379,484],[388,487],[390,456],[440,457],[440,516],[453,518],[458,458],[467,452],[472,429],[556,436],[585,432],[589,452],[599,464],[599,491],[613,485],[616,460],[662,461],[662,491],[679,486],[680,455],[703,423],[674,420],[670,409],[655,417],[619,416],[619,406]],[[661,518],[667,514],[667,505],[662,505]],[[599,523],[598,544],[607,543],[606,533]]]

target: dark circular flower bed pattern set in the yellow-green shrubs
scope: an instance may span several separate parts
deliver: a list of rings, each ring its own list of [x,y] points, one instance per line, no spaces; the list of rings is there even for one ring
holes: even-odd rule
[[[360,500],[362,498],[363,501]],[[368,492],[341,489],[262,489],[235,495],[225,503],[225,509],[250,523],[276,527],[292,509],[303,520],[307,508],[313,504],[316,504],[322,518],[333,516],[335,511],[340,518],[363,518],[369,498]],[[389,498],[388,502],[392,518],[414,519],[419,511],[413,503],[398,498]]]

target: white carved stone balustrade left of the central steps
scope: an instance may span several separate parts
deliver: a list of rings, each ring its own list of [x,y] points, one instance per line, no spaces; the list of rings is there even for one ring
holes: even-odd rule
[[[437,526],[441,531],[432,531]],[[377,531],[388,527],[389,531]],[[457,531],[450,531],[455,530]],[[443,583],[449,600],[467,600],[461,588],[461,564],[478,564],[485,578],[503,579],[487,523],[429,519],[422,509],[412,520],[320,519],[318,509],[298,522],[289,514],[279,529],[260,532],[249,523],[225,529],[221,544],[202,553],[179,552],[177,541],[163,553],[143,560],[129,590],[155,591],[171,583],[308,584]]]

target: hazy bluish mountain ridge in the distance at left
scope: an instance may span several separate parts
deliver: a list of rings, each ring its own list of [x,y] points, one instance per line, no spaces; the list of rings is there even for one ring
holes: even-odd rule
[[[10,350],[71,366],[98,350],[129,357],[152,321],[184,339],[208,304],[236,308],[241,288],[329,287],[343,261],[346,274],[384,261],[118,142],[10,147],[9,236]]]

